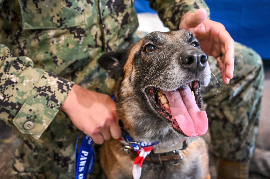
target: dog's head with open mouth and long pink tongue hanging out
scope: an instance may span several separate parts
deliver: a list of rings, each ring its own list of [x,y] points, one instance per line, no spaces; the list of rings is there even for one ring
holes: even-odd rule
[[[165,141],[206,132],[207,117],[198,107],[210,68],[190,32],[152,32],[98,62],[116,79],[119,116],[135,139]]]

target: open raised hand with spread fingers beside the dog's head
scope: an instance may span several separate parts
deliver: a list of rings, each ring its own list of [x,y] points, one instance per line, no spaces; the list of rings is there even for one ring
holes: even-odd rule
[[[224,25],[206,19],[206,15],[205,9],[185,14],[181,19],[179,29],[194,33],[200,41],[202,50],[217,59],[223,82],[228,84],[234,71],[234,40]]]

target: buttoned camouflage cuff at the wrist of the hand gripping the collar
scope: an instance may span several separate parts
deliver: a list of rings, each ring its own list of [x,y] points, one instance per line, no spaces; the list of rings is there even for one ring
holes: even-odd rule
[[[13,124],[23,134],[33,135],[38,140],[60,110],[73,84],[44,71],[16,114]],[[29,123],[31,125],[27,127],[25,124]]]

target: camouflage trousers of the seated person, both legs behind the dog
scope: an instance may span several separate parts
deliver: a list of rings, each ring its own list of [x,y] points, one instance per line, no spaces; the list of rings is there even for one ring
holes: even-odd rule
[[[210,149],[225,160],[248,161],[258,133],[264,81],[261,57],[235,43],[234,78],[228,85],[223,84],[215,59],[209,57],[208,61],[212,82],[203,89],[202,97],[210,125]],[[77,134],[77,128],[60,111],[38,141],[21,136],[12,166],[15,177],[74,178]],[[101,177],[98,155],[96,160],[89,178]]]

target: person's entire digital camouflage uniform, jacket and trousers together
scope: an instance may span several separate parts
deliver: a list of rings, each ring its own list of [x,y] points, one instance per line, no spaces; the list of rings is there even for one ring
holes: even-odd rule
[[[102,53],[138,39],[132,37],[138,26],[133,3],[0,0],[0,44],[5,45],[0,48],[0,119],[14,126],[21,139],[13,164],[17,178],[74,177],[78,130],[59,108],[74,82],[111,93],[114,81],[96,61]],[[205,8],[209,17],[201,0],[151,0],[150,5],[170,30],[178,29],[181,16],[198,8]],[[214,59],[209,61],[221,83]],[[261,58],[236,45],[234,79],[229,85],[221,83],[215,98],[212,84],[208,86],[204,98],[213,126],[212,147],[222,158],[242,161],[252,155],[262,81]],[[34,123],[31,131],[23,128],[26,121]],[[89,177],[100,177],[98,164]]]

